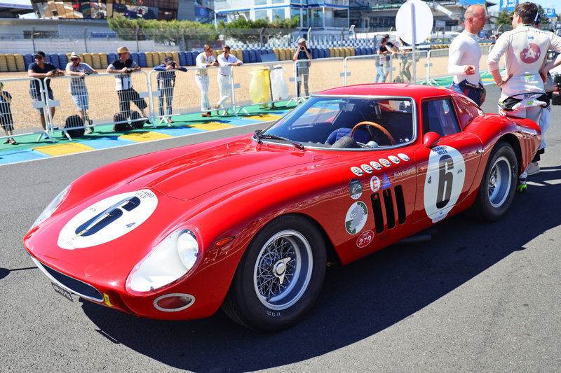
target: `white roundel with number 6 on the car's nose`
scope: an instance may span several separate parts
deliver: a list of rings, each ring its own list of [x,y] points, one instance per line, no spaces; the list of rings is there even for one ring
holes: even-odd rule
[[[102,199],[74,216],[58,235],[67,250],[105,244],[144,223],[156,210],[158,197],[143,189]]]

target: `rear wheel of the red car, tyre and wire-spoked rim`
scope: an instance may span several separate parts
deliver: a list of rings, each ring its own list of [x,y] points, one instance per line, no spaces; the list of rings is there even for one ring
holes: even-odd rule
[[[473,216],[485,222],[501,219],[513,202],[517,177],[514,150],[509,143],[499,141],[492,150],[478,196],[471,206]]]

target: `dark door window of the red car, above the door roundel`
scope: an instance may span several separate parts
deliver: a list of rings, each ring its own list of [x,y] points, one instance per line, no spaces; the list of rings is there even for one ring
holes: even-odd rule
[[[450,98],[423,101],[423,132],[436,132],[440,136],[460,132]]]

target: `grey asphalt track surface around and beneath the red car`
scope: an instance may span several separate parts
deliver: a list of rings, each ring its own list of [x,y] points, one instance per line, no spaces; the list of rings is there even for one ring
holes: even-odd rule
[[[489,87],[485,111],[496,112]],[[561,106],[542,172],[506,218],[445,220],[431,241],[331,267],[309,316],[274,334],[217,312],[154,321],[69,302],[22,237],[67,184],[116,160],[263,124],[0,167],[2,372],[558,372],[561,367]]]

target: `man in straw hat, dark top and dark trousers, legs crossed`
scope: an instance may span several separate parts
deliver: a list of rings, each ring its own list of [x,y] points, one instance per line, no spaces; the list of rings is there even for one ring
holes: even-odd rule
[[[115,89],[119,96],[119,112],[130,117],[130,101],[133,101],[140,109],[144,118],[148,118],[144,109],[148,107],[146,101],[140,98],[140,94],[133,89],[133,82],[130,80],[130,73],[140,71],[140,66],[130,59],[130,52],[127,47],[117,49],[118,59],[115,59],[107,66],[107,73],[114,73]],[[149,120],[147,120],[149,122]]]

